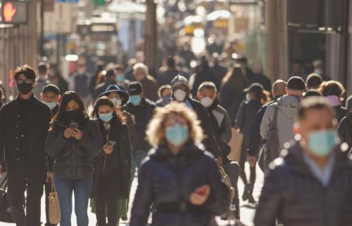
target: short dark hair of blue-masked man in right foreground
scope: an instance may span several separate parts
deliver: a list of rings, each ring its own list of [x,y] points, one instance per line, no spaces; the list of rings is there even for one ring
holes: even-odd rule
[[[306,112],[308,109],[327,109],[332,114],[334,119],[336,117],[335,110],[329,105],[329,102],[322,97],[309,97],[303,99],[298,106],[298,120],[306,117]]]

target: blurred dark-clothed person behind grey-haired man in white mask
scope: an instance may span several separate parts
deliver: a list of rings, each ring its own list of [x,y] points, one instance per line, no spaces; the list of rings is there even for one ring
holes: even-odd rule
[[[199,65],[196,67],[196,73],[189,77],[189,87],[193,97],[196,97],[198,88],[204,81],[212,81],[217,88],[220,87],[220,78],[213,74],[206,57],[201,58]]]

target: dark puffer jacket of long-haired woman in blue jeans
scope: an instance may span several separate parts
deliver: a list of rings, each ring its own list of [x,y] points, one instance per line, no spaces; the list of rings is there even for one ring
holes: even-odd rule
[[[92,158],[96,157],[103,147],[98,124],[92,119],[80,124],[82,140],[65,139],[63,131],[66,128],[68,125],[57,122],[46,138],[45,150],[49,156],[55,157],[54,175],[67,180],[89,178],[94,172]]]

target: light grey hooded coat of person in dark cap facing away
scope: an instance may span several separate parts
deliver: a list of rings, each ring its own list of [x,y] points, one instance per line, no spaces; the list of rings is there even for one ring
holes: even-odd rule
[[[299,99],[293,95],[284,95],[273,105],[270,105],[265,111],[263,120],[260,124],[260,135],[263,140],[268,140],[270,126],[274,118],[275,106],[277,111],[277,134],[279,140],[279,148],[277,153],[284,149],[284,143],[294,138],[293,125],[297,115]],[[274,157],[275,159],[275,157]]]

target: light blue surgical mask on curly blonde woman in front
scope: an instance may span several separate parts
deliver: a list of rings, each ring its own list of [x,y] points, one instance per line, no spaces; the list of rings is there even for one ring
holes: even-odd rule
[[[175,124],[166,128],[166,140],[172,145],[181,146],[189,138],[188,127],[181,124]]]

